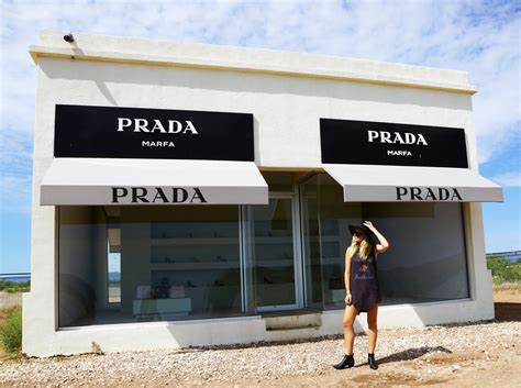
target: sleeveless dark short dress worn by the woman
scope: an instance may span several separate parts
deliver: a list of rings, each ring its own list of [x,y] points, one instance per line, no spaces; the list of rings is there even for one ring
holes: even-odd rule
[[[367,312],[381,300],[376,262],[374,251],[365,260],[359,251],[351,258],[351,297],[352,303],[359,309],[358,314],[363,311]]]

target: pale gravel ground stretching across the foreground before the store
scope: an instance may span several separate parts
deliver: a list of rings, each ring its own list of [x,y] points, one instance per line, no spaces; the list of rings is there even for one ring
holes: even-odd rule
[[[518,386],[521,322],[492,321],[380,330],[378,370],[367,336],[355,339],[352,369],[335,370],[340,336],[284,344],[30,358],[0,364],[3,386]],[[485,377],[483,377],[483,376]],[[518,380],[517,380],[518,378]]]

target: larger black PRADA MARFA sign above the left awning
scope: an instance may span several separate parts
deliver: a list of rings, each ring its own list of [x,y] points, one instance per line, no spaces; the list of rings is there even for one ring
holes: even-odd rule
[[[56,106],[54,156],[253,162],[253,114]]]

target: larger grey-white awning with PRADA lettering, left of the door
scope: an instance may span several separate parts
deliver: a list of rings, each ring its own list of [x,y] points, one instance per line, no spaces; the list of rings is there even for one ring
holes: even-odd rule
[[[263,204],[268,186],[253,162],[55,158],[41,204]]]

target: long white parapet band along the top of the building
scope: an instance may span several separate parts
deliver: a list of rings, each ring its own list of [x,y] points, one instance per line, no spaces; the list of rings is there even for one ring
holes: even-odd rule
[[[477,91],[468,82],[468,73],[459,70],[276,49],[76,32],[73,33],[75,42],[67,43],[63,38],[65,34],[67,32],[41,31],[40,43],[29,48],[34,63],[37,64],[41,57],[51,57],[324,78],[466,95]]]

